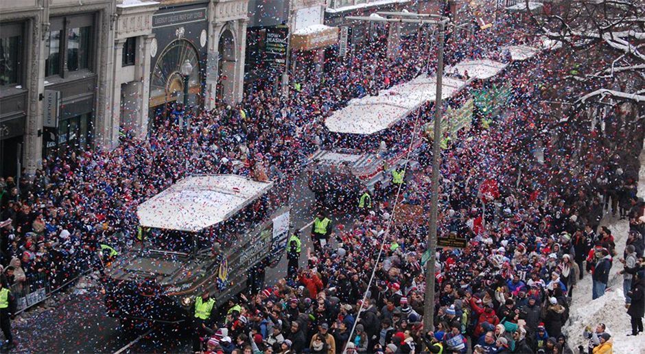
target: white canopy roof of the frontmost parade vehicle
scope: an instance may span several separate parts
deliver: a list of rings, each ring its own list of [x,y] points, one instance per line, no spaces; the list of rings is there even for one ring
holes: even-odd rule
[[[184,178],[139,205],[139,224],[197,232],[227,220],[272,185],[232,174]]]

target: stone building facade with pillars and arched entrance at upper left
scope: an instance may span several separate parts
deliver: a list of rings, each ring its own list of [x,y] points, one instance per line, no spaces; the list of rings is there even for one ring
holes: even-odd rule
[[[0,176],[242,99],[248,0],[0,0]]]

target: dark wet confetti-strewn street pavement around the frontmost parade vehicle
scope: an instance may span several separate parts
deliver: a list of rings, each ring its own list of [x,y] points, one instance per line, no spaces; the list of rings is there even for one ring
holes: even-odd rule
[[[309,237],[314,220],[314,195],[307,186],[307,174],[296,180],[292,192],[292,224],[302,229],[303,250],[301,266],[307,262],[307,247],[312,248]],[[351,215],[333,215],[338,225],[351,224]],[[287,257],[266,272],[266,283],[272,284],[287,274]],[[18,344],[12,353],[190,353],[190,331],[154,325],[136,331],[123,331],[119,321],[106,316],[106,308],[97,281],[86,280],[75,287],[61,300],[27,311],[12,323],[14,338]],[[145,334],[145,335],[143,335]],[[142,336],[143,335],[143,336]],[[135,341],[132,343],[133,341]],[[1,351],[0,351],[1,352]]]

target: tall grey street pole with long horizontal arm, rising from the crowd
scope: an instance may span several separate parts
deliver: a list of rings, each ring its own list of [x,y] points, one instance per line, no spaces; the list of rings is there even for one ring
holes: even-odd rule
[[[430,259],[427,260],[425,267],[425,302],[423,311],[423,330],[434,331],[434,261],[436,258],[436,220],[438,212],[438,192],[439,192],[439,158],[441,157],[440,140],[441,140],[441,116],[443,114],[443,103],[441,99],[443,86],[443,41],[445,38],[446,25],[449,19],[446,16],[436,14],[415,14],[413,12],[377,12],[381,16],[347,16],[345,19],[353,21],[370,21],[370,22],[389,22],[389,23],[418,23],[423,25],[437,25],[437,45],[439,49],[437,70],[436,70],[436,96],[434,98],[434,145],[432,147],[432,189],[430,200],[430,233],[427,236],[427,252],[430,252]],[[393,18],[389,18],[389,17]],[[427,42],[426,42],[427,43]],[[358,322],[358,312],[350,332],[354,332]]]

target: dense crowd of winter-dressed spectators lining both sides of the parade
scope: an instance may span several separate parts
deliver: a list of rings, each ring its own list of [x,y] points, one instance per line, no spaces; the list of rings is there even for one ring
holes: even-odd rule
[[[449,60],[499,56],[501,38],[530,44],[512,33],[481,32],[467,40],[486,45],[461,53],[465,39],[451,36]],[[96,263],[99,244],[128,248],[137,235],[137,204],[188,174],[294,178],[320,145],[326,115],[353,97],[410,80],[425,61],[403,52],[388,62],[367,48],[328,64],[335,69],[322,73],[319,84],[305,83],[288,97],[260,90],[237,106],[201,112],[177,106],[146,139],[124,132],[115,150],[44,160],[18,185],[0,180],[3,282],[45,276],[57,287]],[[552,75],[543,56],[503,75],[511,99],[500,115],[485,128],[459,132],[441,153],[439,234],[455,233],[467,247],[438,250],[436,298],[424,299],[427,225],[391,222],[397,207],[430,209],[431,168],[421,166],[410,169],[400,200],[374,196],[371,210],[350,226],[338,224],[333,241],[310,252],[292,278],[231,298],[226,318],[196,329],[202,335],[193,349],[572,353],[563,325],[576,283],[591,276],[593,298],[602,296],[617,259],[624,264],[632,334],[640,333],[645,203],[636,197],[640,149],[633,147],[642,146],[643,128],[557,126],[529,109],[543,98],[536,83]],[[570,140],[552,139],[545,133],[552,130]],[[615,143],[621,139],[633,144]],[[629,218],[625,250],[616,249],[610,228],[600,227],[606,210]],[[426,300],[434,301],[432,331],[422,325]],[[590,353],[611,353],[604,325],[584,335]]]

